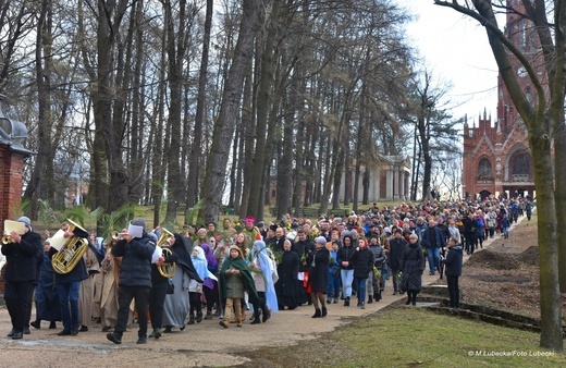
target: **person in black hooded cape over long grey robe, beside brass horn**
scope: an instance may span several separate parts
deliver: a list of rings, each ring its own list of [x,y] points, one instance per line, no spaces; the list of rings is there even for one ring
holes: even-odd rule
[[[170,249],[172,255],[165,258],[165,262],[176,263],[176,270],[171,282],[173,283],[173,294],[168,294],[163,304],[163,323],[165,327],[163,332],[170,333],[172,328],[179,328],[181,331],[185,329],[185,320],[190,310],[188,296],[188,287],[190,280],[202,283],[202,279],[198,275],[188,252],[188,243],[184,236],[175,233],[170,240]]]

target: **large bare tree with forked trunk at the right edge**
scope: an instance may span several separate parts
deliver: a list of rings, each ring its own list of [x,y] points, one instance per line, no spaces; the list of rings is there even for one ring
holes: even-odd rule
[[[434,3],[448,7],[477,20],[487,30],[491,50],[495,57],[500,75],[507,91],[528,130],[529,146],[534,165],[537,207],[539,213],[539,261],[540,261],[540,306],[541,347],[557,352],[564,349],[562,331],[562,302],[558,278],[561,266],[566,265],[566,230],[564,229],[565,177],[556,160],[556,171],[552,160],[552,143],[564,140],[564,97],[566,87],[566,4],[563,1],[488,1],[473,0],[459,4],[455,1],[435,0]],[[537,41],[514,42],[497,24],[495,11],[517,13],[525,27],[519,37],[531,35]],[[553,21],[547,14],[554,16]],[[537,53],[532,53],[533,46]],[[518,83],[518,65],[525,68],[532,84],[534,98],[527,96]],[[547,82],[547,83],[545,83]],[[555,146],[557,157],[564,155],[563,145]],[[564,165],[562,165],[564,167]],[[557,236],[557,235],[561,236]],[[559,252],[558,252],[559,244]],[[566,271],[566,269],[563,269]]]

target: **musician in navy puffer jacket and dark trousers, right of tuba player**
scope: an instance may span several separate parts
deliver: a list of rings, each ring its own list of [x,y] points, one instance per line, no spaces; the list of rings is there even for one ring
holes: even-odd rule
[[[135,219],[132,224],[142,228],[142,236],[134,237],[124,230],[123,238],[118,241],[112,249],[114,257],[122,257],[118,290],[118,322],[114,332],[107,334],[107,339],[114,344],[122,343],[122,334],[126,329],[130,315],[130,303],[134,298],[139,324],[137,343],[147,343],[147,298],[151,289],[151,256],[155,245],[149,242],[146,233],[146,220]]]

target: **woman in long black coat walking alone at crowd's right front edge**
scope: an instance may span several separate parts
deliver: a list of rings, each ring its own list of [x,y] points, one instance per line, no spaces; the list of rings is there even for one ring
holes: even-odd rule
[[[407,292],[406,305],[417,305],[417,294],[422,287],[422,271],[424,270],[424,255],[419,244],[419,237],[410,234],[409,244],[405,246],[401,258],[401,289]]]

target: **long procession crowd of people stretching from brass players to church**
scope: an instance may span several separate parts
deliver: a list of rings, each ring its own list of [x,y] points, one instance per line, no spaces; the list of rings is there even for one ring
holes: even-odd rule
[[[64,237],[88,245],[76,266],[65,273],[53,269],[58,249],[23,217],[25,234],[13,232],[2,246],[7,256],[4,298],[12,319],[12,339],[40,329],[48,321],[59,335],[77,335],[100,323],[108,340],[121,344],[126,328],[137,320],[137,343],[159,339],[173,329],[219,318],[222,328],[266,323],[273,312],[311,305],[312,318],[329,314],[329,304],[357,307],[377,303],[392,280],[394,295],[415,305],[422,272],[445,271],[450,306],[459,304],[458,277],[463,254],[483,241],[508,236],[510,223],[522,212],[530,220],[527,198],[477,201],[373,205],[347,218],[321,216],[266,223],[251,217],[225,218],[197,231],[146,231],[144,219],[107,243],[79,226]],[[49,236],[49,234],[46,234]],[[162,249],[169,253],[162,253]],[[428,260],[428,262],[427,262]],[[165,266],[172,274],[164,274]],[[36,314],[32,316],[35,290]],[[248,312],[249,311],[249,312]],[[248,314],[247,314],[248,312]],[[148,335],[148,321],[151,332]],[[218,324],[217,324],[218,327]]]

